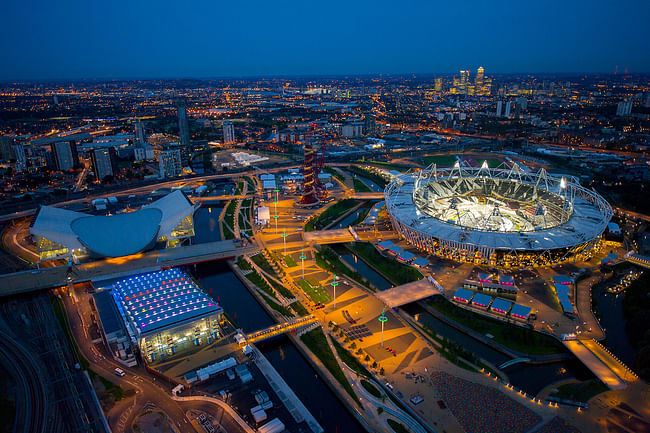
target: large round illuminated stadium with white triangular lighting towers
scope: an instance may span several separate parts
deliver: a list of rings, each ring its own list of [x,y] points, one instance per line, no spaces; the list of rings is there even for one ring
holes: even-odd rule
[[[588,258],[612,207],[572,176],[513,164],[435,164],[396,177],[384,191],[399,235],[421,250],[460,262],[547,266]]]

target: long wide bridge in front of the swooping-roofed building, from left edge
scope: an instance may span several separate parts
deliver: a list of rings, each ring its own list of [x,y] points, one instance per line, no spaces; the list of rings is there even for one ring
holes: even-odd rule
[[[212,260],[254,254],[257,247],[227,240],[154,250],[74,266],[55,266],[0,275],[0,297],[49,289],[72,283],[118,278],[162,268],[191,265]]]

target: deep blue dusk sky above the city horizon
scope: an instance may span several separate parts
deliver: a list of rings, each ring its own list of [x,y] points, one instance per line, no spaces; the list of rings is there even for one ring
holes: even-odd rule
[[[650,71],[650,1],[10,0],[0,80]]]

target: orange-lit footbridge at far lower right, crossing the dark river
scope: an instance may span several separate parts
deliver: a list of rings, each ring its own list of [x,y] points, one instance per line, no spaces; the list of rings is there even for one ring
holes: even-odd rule
[[[638,380],[632,370],[595,340],[565,338],[562,342],[609,389],[623,389]]]

